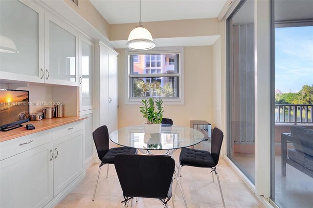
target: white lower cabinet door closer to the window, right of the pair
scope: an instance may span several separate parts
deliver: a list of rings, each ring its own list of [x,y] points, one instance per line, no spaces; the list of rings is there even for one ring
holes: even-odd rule
[[[54,196],[85,170],[84,130],[53,141]]]

